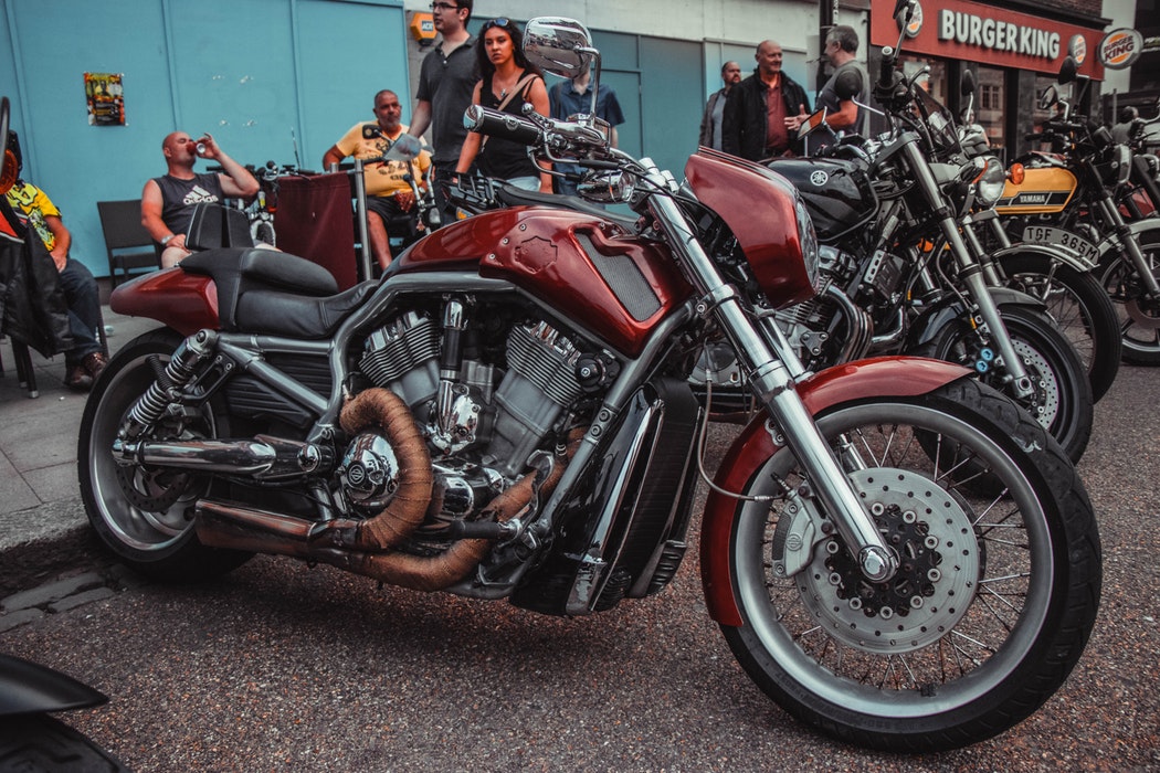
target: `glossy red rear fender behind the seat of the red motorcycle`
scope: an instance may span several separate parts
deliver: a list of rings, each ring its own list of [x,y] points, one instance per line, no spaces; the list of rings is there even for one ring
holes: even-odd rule
[[[153,271],[123,285],[109,296],[109,308],[126,316],[162,322],[183,336],[219,327],[217,285],[203,275],[180,268]]]

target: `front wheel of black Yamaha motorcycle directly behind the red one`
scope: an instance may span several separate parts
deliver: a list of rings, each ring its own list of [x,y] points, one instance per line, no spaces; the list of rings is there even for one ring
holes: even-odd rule
[[[1072,461],[1079,461],[1092,437],[1094,409],[1092,386],[1075,348],[1050,319],[1034,309],[1002,306],[999,312],[1032,381],[1031,396],[1017,402],[1059,440]],[[958,320],[909,353],[970,366],[978,359],[977,341]],[[1002,377],[999,369],[992,367],[979,378],[1002,388]]]

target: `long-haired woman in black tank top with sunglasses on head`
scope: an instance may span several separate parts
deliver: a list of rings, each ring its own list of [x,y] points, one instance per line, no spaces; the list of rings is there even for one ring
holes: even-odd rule
[[[542,116],[549,115],[548,88],[539,70],[523,54],[523,34],[508,19],[486,22],[476,44],[476,58],[481,79],[476,83],[472,104],[523,115],[523,103]],[[488,177],[505,180],[527,190],[552,192],[552,177],[545,167],[528,155],[527,146],[498,137],[484,138],[470,132],[459,151],[457,174],[466,173],[476,162]]]

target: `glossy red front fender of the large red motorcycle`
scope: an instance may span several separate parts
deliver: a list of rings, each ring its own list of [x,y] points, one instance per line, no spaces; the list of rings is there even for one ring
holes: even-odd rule
[[[959,365],[918,357],[880,357],[835,365],[798,385],[797,391],[812,416],[833,406],[867,398],[913,398],[934,392],[970,371]],[[722,460],[713,480],[725,491],[744,491],[761,466],[781,446],[766,430],[760,414],[741,430]],[[740,626],[741,612],[734,597],[730,562],[737,499],[709,493],[701,531],[701,582],[712,619],[724,626]]]

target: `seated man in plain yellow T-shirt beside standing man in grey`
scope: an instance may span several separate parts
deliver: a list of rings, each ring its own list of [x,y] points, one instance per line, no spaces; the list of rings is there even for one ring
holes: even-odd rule
[[[360,122],[335,143],[331,150],[322,155],[322,167],[331,168],[347,156],[370,160],[382,159],[383,154],[391,148],[399,137],[407,131],[407,126],[400,123],[403,117],[403,105],[394,92],[382,90],[375,95],[375,117],[377,123]],[[377,126],[379,137],[367,139],[363,137],[363,126]],[[367,231],[370,239],[371,254],[378,261],[379,268],[385,269],[391,262],[390,234],[387,225],[398,221],[399,216],[405,216],[414,210],[415,197],[411,190],[411,184],[404,178],[412,175],[415,183],[423,187],[428,169],[430,169],[430,154],[423,151],[413,161],[371,161],[363,166],[363,180],[367,184],[367,210],[378,217],[367,218]],[[411,226],[407,228],[411,233]]]

